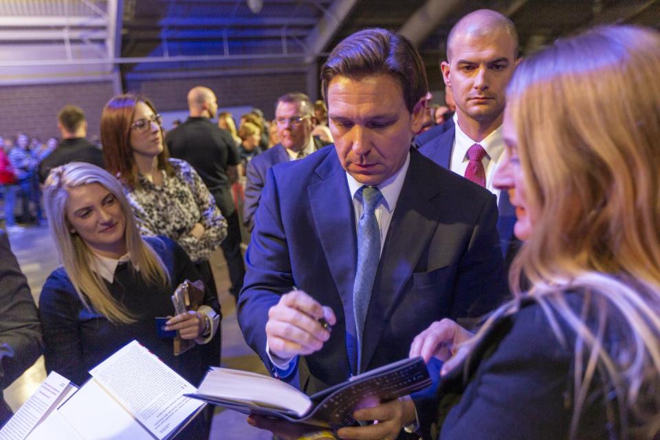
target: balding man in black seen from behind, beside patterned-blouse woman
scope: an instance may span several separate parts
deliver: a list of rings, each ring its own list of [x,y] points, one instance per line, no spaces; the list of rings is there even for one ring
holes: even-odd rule
[[[217,98],[211,89],[201,86],[190,89],[188,109],[188,120],[167,133],[165,142],[172,157],[184,159],[197,170],[227,219],[228,234],[221,246],[232,281],[230,294],[238,299],[245,265],[240,247],[239,215],[232,199],[231,185],[238,175],[239,152],[230,133],[211,122],[218,111]]]

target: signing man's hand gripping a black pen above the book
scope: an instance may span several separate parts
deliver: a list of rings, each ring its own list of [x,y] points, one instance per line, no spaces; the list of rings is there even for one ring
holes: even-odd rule
[[[302,290],[280,298],[268,311],[266,337],[271,355],[288,360],[319,351],[330,338],[337,318],[332,309],[320,305]]]

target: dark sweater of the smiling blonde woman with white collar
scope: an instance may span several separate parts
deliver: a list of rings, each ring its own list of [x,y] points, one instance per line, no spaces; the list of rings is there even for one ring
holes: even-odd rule
[[[63,267],[50,274],[39,298],[49,373],[57,371],[72,382],[83,384],[89,379],[90,369],[133,339],[195,386],[208,366],[219,362],[209,359],[205,355],[207,351],[199,345],[177,357],[173,354],[173,340],[157,336],[155,317],[174,315],[170,296],[175,287],[186,279],[198,280],[199,274],[186,252],[174,241],[165,237],[146,240],[166,265],[172,286],[162,289],[149,285],[130,262],[118,265],[113,283],[105,281],[111,295],[137,317],[137,322],[132,324],[115,325],[98,312],[85,309]],[[209,289],[204,304],[220,313],[218,300]],[[219,331],[215,338],[220,338]]]

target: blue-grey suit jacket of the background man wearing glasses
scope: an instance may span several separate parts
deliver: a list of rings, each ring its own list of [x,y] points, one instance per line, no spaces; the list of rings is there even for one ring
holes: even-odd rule
[[[318,137],[314,137],[314,145],[318,150],[328,145],[328,143],[323,142]],[[245,171],[248,181],[245,184],[243,223],[245,223],[245,226],[250,231],[254,228],[254,212],[256,212],[256,208],[259,206],[261,190],[263,190],[263,185],[266,182],[266,172],[271,166],[281,164],[282,162],[289,162],[289,154],[282,144],[277,144],[273,148],[267,149],[248,162],[248,168]]]

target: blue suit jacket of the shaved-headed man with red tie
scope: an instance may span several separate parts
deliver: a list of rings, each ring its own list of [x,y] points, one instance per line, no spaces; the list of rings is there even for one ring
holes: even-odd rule
[[[455,133],[456,127],[452,124],[450,129],[420,146],[419,152],[436,164],[450,169]],[[503,256],[506,256],[507,261],[509,261],[511,254],[515,253],[515,250],[518,248],[519,241],[514,236],[516,210],[511,206],[508,192],[500,191],[500,200],[497,208],[499,211],[497,232],[500,234],[500,249]]]

